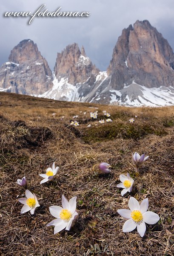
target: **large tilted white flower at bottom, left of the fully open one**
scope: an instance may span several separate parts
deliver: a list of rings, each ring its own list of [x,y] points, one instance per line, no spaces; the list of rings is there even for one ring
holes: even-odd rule
[[[56,219],[48,223],[46,226],[55,226],[54,234],[60,232],[64,228],[66,228],[66,230],[70,230],[74,217],[78,215],[78,212],[76,212],[76,198],[77,197],[74,196],[68,202],[66,197],[62,195],[63,208],[57,205],[49,207],[51,215]]]

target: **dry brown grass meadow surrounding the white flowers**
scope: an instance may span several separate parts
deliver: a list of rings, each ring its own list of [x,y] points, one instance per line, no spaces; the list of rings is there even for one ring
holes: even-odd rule
[[[174,107],[102,106],[11,93],[0,93],[0,102],[2,255],[174,255]],[[113,122],[91,121],[89,112],[95,108],[100,118],[106,109]],[[79,127],[69,126],[74,115],[79,115]],[[135,115],[130,125],[128,119]],[[132,151],[149,155],[137,178]],[[57,179],[40,185],[39,173],[53,161],[60,166]],[[92,166],[102,161],[112,166],[111,173],[95,177]],[[121,197],[117,184],[120,173],[126,172],[136,187]],[[17,202],[25,191],[15,182],[24,175],[40,198],[33,216],[20,215],[22,204]],[[46,227],[53,218],[49,207],[61,205],[63,193],[68,199],[77,196],[79,215],[70,231],[54,235],[53,228]],[[125,220],[117,209],[127,208],[130,196],[138,201],[147,197],[149,210],[160,215],[159,223],[147,225],[143,238],[136,230],[122,232]]]

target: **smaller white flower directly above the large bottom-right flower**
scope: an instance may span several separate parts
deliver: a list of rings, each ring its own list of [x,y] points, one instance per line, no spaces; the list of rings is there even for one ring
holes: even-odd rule
[[[123,188],[121,195],[125,195],[127,192],[131,192],[132,191],[132,187],[134,184],[134,180],[131,178],[130,174],[127,172],[127,177],[124,174],[120,175],[120,181],[121,183],[119,183],[117,185],[117,188]]]

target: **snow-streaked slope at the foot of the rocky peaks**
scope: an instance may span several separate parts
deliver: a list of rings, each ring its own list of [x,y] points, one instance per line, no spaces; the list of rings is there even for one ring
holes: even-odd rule
[[[173,87],[147,88],[133,81],[130,85],[125,85],[121,90],[113,90],[109,79],[110,77],[106,72],[100,72],[96,76],[94,85],[90,86],[88,81],[83,84],[73,85],[68,83],[68,79],[61,78],[58,81],[54,76],[52,89],[37,96],[56,100],[104,102],[111,105],[136,107],[174,105]]]

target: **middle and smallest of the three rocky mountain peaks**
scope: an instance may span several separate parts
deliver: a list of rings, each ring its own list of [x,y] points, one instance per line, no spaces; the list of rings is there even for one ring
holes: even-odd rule
[[[76,43],[68,45],[61,53],[57,53],[54,67],[57,79],[68,78],[70,84],[84,83],[99,72],[100,70],[86,56],[84,47],[80,52]]]

